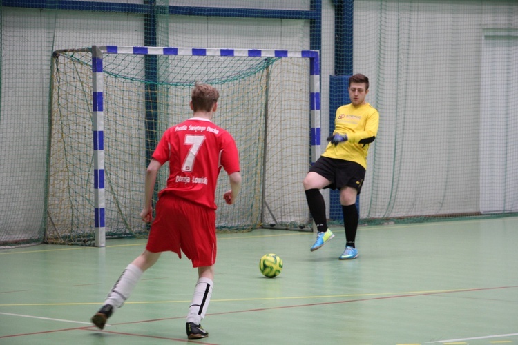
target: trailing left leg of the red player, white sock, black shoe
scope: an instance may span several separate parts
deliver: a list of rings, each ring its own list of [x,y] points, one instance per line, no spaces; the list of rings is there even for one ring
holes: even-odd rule
[[[130,297],[133,288],[137,285],[142,273],[153,266],[160,257],[160,253],[151,253],[144,250],[144,253],[139,255],[126,269],[122,272],[110,293],[106,296],[104,304],[95,315],[92,317],[92,322],[95,326],[103,329],[109,317],[120,308],[124,301]]]

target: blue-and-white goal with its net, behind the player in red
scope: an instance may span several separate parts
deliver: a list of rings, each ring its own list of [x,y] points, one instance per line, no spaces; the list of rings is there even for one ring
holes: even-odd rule
[[[106,46],[52,57],[45,241],[145,237],[144,172],[166,128],[192,116],[196,81],[220,91],[215,124],[240,151],[242,191],[217,228],[308,228],[302,180],[319,155],[318,53]],[[169,170],[160,170],[156,191]],[[155,199],[156,201],[156,199]],[[196,215],[193,215],[196,217]]]

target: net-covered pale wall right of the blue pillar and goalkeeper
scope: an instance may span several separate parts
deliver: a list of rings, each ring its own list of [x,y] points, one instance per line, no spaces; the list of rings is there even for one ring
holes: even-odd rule
[[[366,100],[380,112],[361,222],[516,215],[516,1],[354,1],[349,11],[353,49],[338,50],[336,70],[370,77]]]

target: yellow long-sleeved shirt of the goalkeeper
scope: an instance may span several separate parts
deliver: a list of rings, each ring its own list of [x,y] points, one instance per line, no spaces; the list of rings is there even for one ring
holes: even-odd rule
[[[355,161],[367,169],[369,143],[378,134],[379,113],[369,103],[361,106],[347,104],[336,109],[334,133],[347,134],[347,141],[338,145],[329,143],[324,157]]]

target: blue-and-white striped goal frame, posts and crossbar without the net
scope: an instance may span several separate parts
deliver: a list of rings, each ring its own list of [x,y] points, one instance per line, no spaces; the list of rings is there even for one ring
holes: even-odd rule
[[[320,58],[316,50],[175,48],[144,46],[92,46],[92,107],[94,149],[95,246],[106,246],[104,198],[104,54],[128,55],[198,55],[215,57],[300,57],[309,59],[309,105],[311,117],[311,163],[320,157]]]

